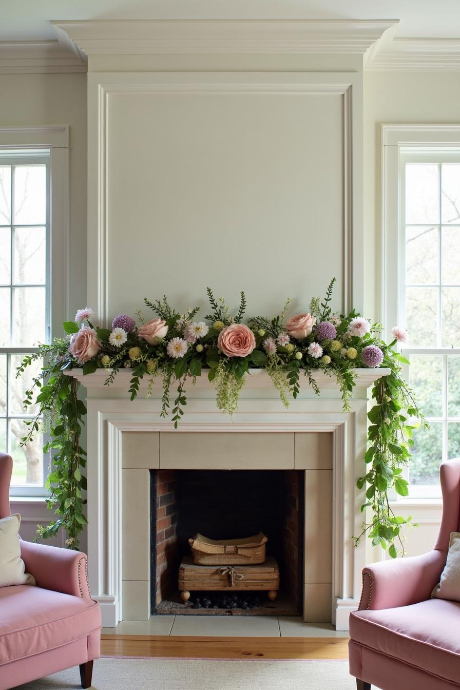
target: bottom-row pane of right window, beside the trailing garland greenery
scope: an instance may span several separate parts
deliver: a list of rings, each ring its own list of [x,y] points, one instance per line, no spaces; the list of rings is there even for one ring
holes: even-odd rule
[[[441,422],[431,422],[430,428],[414,430],[412,460],[409,464],[410,484],[438,484],[439,465],[443,455]]]

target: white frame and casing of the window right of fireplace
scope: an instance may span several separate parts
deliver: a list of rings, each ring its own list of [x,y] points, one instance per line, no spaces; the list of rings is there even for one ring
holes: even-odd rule
[[[396,324],[405,323],[405,290],[406,277],[403,274],[406,254],[405,226],[403,218],[404,175],[406,163],[429,161],[436,158],[437,163],[456,159],[460,152],[450,152],[449,147],[460,148],[460,126],[457,125],[383,125],[382,126],[382,290],[381,319],[385,335],[392,339],[390,329]],[[442,151],[446,148],[446,151]],[[441,213],[441,210],[440,210]],[[437,225],[437,224],[434,224]],[[439,275],[440,286],[442,276]],[[443,357],[443,384],[446,386],[446,355],[459,355],[460,348],[414,347],[403,348],[401,353],[406,357],[414,355],[441,355]],[[408,379],[408,366],[403,366],[403,374]],[[446,397],[444,390],[443,397]],[[433,417],[434,420],[434,417]],[[438,418],[437,418],[438,420]],[[443,415],[439,417],[443,425],[443,456],[447,451],[446,429],[449,423],[446,400],[443,400]],[[408,505],[434,505],[441,502],[441,493],[433,497],[396,497],[392,502]]]

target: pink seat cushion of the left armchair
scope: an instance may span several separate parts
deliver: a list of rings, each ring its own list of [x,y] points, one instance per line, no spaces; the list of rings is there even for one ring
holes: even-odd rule
[[[64,647],[101,627],[97,602],[30,585],[2,587],[0,612],[0,667]]]

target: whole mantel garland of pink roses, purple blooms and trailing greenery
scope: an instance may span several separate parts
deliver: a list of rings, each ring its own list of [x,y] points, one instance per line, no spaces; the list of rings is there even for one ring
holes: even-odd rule
[[[359,489],[366,486],[366,503],[361,511],[369,508],[372,520],[363,522],[361,535],[353,539],[358,544],[368,533],[372,544],[388,547],[393,558],[398,553],[398,541],[399,551],[404,553],[401,527],[413,523],[410,517],[394,515],[388,491],[394,489],[400,495],[408,495],[402,468],[410,459],[417,418],[426,424],[400,375],[400,362],[406,360],[394,349],[398,341],[406,342],[407,333],[393,328],[394,340],[387,345],[380,338],[379,324],[372,326],[354,310],[348,315],[333,313],[330,302],[334,280],[323,302],[312,299],[308,313],[287,320],[289,299],[281,314],[273,319],[256,316],[248,319],[248,325],[243,324],[245,294],[241,292],[239,310],[231,315],[225,299],[215,299],[208,288],[211,311],[203,321],[196,319],[199,308],[180,314],[163,297],[153,303],[144,300],[157,316],[146,321],[138,311],[139,326],[123,314],[114,318],[111,329],[94,327],[94,312],[88,307],[77,312],[74,322],[64,322],[67,337],[40,345],[36,353],[23,359],[17,371],[19,376],[34,360],[45,362],[41,375],[26,393],[26,408],[38,393],[39,411],[27,422],[30,431],[22,440],[26,444],[36,433],[50,435],[44,448],[45,452],[52,451],[53,464],[48,477],[48,507],[54,509],[57,520],[39,526],[38,538],[53,536],[62,528],[68,535],[66,543],[76,549],[79,533],[87,522],[83,513],[86,477],[81,473],[86,453],[79,442],[86,407],[78,398],[79,382],[64,373],[67,368],[80,367],[83,374],[106,369],[106,385],[113,382],[120,368],[129,368],[131,400],[137,397],[143,377],[148,377],[147,396],[152,395],[155,377],[159,375],[163,380],[161,416],[171,415],[177,428],[187,404],[186,382],[194,383],[203,368],[216,389],[217,407],[232,415],[237,411],[239,393],[250,366],[266,369],[286,407],[290,397],[299,394],[301,374],[319,394],[313,371],[320,369],[336,378],[344,411],[350,409],[354,369],[385,366],[390,375],[381,377],[372,388],[375,405],[368,414],[369,469],[357,482]],[[172,384],[177,384],[174,402],[170,401]]]

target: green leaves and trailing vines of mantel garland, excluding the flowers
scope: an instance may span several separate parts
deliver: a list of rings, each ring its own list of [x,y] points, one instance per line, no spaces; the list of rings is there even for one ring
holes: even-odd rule
[[[96,331],[101,349],[99,354],[84,364],[77,362],[69,352],[69,336],[77,333],[79,327],[74,322],[65,322],[66,338],[54,339],[51,345],[41,345],[34,355],[26,355],[18,375],[38,359],[43,359],[45,366],[41,375],[34,380],[33,386],[26,391],[26,408],[34,404],[34,397],[39,411],[32,420],[26,422],[29,432],[23,439],[27,443],[36,433],[42,431],[41,419],[46,420],[50,433],[50,442],[46,452],[50,453],[52,471],[49,478],[50,498],[48,506],[56,513],[46,527],[39,528],[39,537],[55,535],[59,529],[65,529],[68,535],[68,546],[78,547],[78,536],[86,524],[84,515],[84,491],[86,478],[83,471],[86,465],[85,451],[80,446],[81,428],[86,413],[85,406],[78,397],[79,384],[68,376],[68,368],[82,368],[84,375],[91,375],[100,368],[106,371],[106,385],[112,384],[120,368],[130,370],[129,394],[131,400],[139,395],[144,377],[148,377],[147,395],[152,395],[156,377],[161,377],[161,417],[170,416],[174,428],[177,428],[187,404],[186,384],[194,383],[196,377],[203,374],[206,368],[208,380],[216,389],[217,407],[228,415],[237,412],[239,395],[245,384],[246,376],[252,368],[266,369],[274,388],[278,391],[281,402],[288,407],[291,398],[301,393],[301,373],[308,380],[312,391],[319,395],[317,371],[334,377],[339,384],[343,411],[350,410],[350,398],[354,388],[355,368],[363,366],[361,351],[367,345],[374,344],[383,352],[382,366],[390,369],[390,375],[381,377],[372,389],[374,406],[368,417],[369,447],[366,451],[366,474],[360,477],[357,486],[366,495],[361,511],[365,520],[363,531],[354,538],[355,543],[368,533],[373,544],[379,544],[395,557],[403,547],[401,529],[411,526],[412,519],[394,515],[388,499],[390,491],[401,496],[408,495],[408,482],[402,476],[402,468],[410,460],[410,449],[416,422],[410,418],[419,417],[417,404],[412,392],[400,375],[400,363],[403,357],[392,346],[387,346],[379,339],[379,325],[374,324],[370,333],[362,338],[352,336],[348,326],[358,314],[351,311],[348,315],[332,313],[332,289],[334,279],[330,282],[326,297],[319,297],[310,302],[310,313],[321,320],[332,320],[336,324],[337,336],[333,341],[323,340],[323,356],[314,359],[308,352],[312,342],[316,342],[315,328],[304,339],[292,339],[286,342],[283,335],[282,344],[277,339],[286,333],[286,315],[290,299],[287,299],[281,313],[269,319],[264,316],[248,320],[254,333],[255,347],[246,357],[227,357],[217,346],[222,327],[241,323],[246,312],[246,295],[240,293],[240,304],[236,314],[223,297],[216,299],[212,290],[207,288],[211,313],[205,317],[210,322],[208,329],[201,327],[201,336],[193,340],[186,328],[192,323],[199,311],[197,307],[189,309],[185,315],[179,314],[170,306],[166,296],[145,303],[168,326],[168,333],[155,345],[148,344],[139,337],[137,330],[128,333],[126,343],[119,348],[110,344],[110,330],[97,326]],[[143,317],[137,312],[140,321]],[[220,322],[217,323],[216,322]],[[92,326],[90,322],[88,325]],[[207,331],[207,332],[206,332]],[[184,348],[182,356],[173,358],[168,353],[168,343],[174,337],[181,338]],[[187,338],[187,343],[184,338]],[[267,339],[270,339],[267,341]],[[190,342],[193,340],[193,342]],[[351,350],[349,348],[352,348]],[[356,355],[356,356],[355,356]],[[170,391],[177,385],[174,403],[170,403]],[[423,443],[423,437],[417,430],[417,443]],[[454,440],[457,443],[457,440]],[[460,449],[460,437],[458,440]],[[368,513],[372,513],[366,522]],[[396,542],[396,543],[395,543]],[[401,549],[403,551],[403,548]]]

